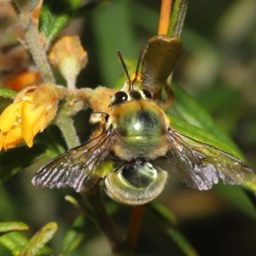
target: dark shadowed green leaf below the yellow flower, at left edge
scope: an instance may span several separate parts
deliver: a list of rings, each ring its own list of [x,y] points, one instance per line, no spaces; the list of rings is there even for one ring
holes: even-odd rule
[[[31,166],[45,152],[45,146],[35,144],[32,148],[22,146],[0,154],[0,184],[27,166]]]

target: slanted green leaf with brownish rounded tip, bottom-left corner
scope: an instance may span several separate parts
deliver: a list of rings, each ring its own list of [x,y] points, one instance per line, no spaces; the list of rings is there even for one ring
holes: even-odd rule
[[[57,224],[55,222],[45,224],[44,227],[38,230],[38,232],[26,243],[26,246],[19,256],[47,255],[44,250],[42,251],[42,248],[55,235],[56,230]]]

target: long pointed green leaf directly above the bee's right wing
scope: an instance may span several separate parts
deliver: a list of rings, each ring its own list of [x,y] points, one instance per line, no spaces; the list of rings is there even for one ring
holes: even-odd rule
[[[207,143],[227,153],[243,159],[240,150],[236,144],[222,131],[214,122],[207,111],[201,108],[200,104],[182,88],[176,84],[172,84],[174,94],[174,103],[172,111],[167,113],[175,113],[182,120],[171,118],[173,128],[183,135],[192,137],[201,143]],[[201,129],[200,129],[201,128]]]

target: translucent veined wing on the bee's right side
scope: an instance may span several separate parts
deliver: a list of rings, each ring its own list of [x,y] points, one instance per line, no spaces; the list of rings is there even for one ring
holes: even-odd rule
[[[170,130],[168,158],[173,171],[194,189],[211,189],[221,179],[238,184],[255,178],[253,170],[235,156]]]

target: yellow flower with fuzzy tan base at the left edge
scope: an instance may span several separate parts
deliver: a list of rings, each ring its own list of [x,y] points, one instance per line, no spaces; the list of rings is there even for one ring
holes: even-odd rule
[[[52,84],[21,90],[0,116],[0,151],[14,148],[23,140],[32,147],[33,138],[55,118],[60,98],[60,92]]]

